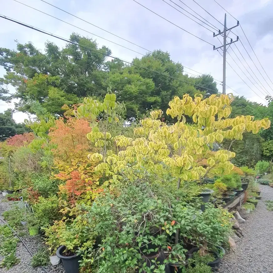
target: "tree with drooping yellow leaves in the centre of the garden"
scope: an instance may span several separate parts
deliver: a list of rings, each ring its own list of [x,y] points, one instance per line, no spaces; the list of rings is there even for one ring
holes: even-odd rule
[[[76,112],[78,117],[91,122],[92,131],[87,138],[100,148],[100,153],[88,157],[97,162],[95,171],[109,176],[110,182],[119,180],[120,174],[130,175],[132,169],[143,168],[154,174],[167,169],[177,178],[177,188],[181,181],[228,174],[234,167],[230,159],[235,153],[228,150],[212,152],[213,144],[221,143],[223,139],[242,139],[246,131],[257,134],[260,129],[270,127],[267,118],[254,120],[252,116],[240,116],[229,119],[232,95],[211,95],[203,99],[201,94],[196,94],[193,99],[185,94],[182,99],[174,97],[169,102],[166,114],[177,119],[175,124],[162,122],[163,112],[155,110],[134,129],[134,140],[124,135],[113,137],[100,123],[102,120],[114,122],[115,99],[115,94],[107,94],[103,103],[88,98]],[[191,124],[186,123],[186,119],[192,121]],[[202,159],[206,159],[206,167],[198,164]]]

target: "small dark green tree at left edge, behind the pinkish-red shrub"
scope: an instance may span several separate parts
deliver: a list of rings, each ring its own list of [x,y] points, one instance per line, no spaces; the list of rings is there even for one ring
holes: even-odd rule
[[[0,113],[0,141],[4,141],[16,134],[23,134],[28,131],[29,129],[24,123],[17,124],[13,120],[11,110]]]

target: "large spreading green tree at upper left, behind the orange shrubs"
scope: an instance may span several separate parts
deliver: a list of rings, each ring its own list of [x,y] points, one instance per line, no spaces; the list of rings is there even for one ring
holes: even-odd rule
[[[110,49],[98,48],[92,39],[75,33],[70,41],[103,54],[70,43],[59,49],[48,42],[45,54],[32,43],[17,43],[17,50],[0,48],[0,65],[6,70],[4,78],[0,79],[2,97],[5,100],[19,98],[16,107],[22,111],[29,110],[26,106],[29,98],[38,99],[48,112],[59,115],[63,102],[72,104],[76,98],[104,93],[103,83],[107,76],[104,61],[111,53]],[[7,84],[16,88],[15,94],[7,95]]]

